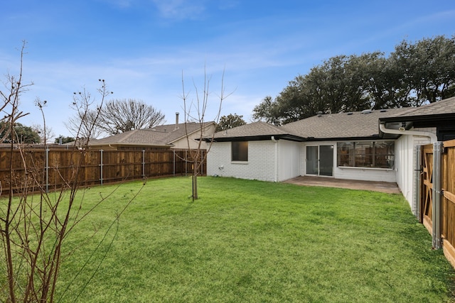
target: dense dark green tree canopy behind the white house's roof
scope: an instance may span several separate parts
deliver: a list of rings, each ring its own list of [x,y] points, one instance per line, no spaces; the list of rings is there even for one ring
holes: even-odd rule
[[[455,35],[403,40],[382,52],[338,55],[298,75],[253,109],[255,120],[281,123],[323,113],[420,106],[455,95]]]

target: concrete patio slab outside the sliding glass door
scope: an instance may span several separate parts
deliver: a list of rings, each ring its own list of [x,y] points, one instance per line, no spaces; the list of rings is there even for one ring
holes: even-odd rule
[[[348,189],[371,190],[374,192],[385,192],[387,194],[400,194],[398,185],[393,182],[375,182],[361,180],[343,180],[332,177],[313,177],[301,176],[296,177],[284,183],[291,183],[306,186],[321,186],[321,187],[339,187]]]

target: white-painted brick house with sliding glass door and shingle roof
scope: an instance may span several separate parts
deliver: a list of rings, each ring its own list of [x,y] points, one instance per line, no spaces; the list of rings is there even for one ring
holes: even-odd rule
[[[207,174],[272,182],[301,175],[396,182],[411,203],[414,147],[450,138],[455,97],[418,108],[319,114],[284,126],[255,122],[215,133]]]

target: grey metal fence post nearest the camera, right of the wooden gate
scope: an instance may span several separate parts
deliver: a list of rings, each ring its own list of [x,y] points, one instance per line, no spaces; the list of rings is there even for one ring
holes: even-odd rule
[[[432,207],[432,242],[433,248],[441,248],[441,155],[442,142],[433,143],[433,207]]]

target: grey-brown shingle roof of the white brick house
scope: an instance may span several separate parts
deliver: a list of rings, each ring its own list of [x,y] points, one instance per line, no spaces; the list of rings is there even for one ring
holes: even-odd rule
[[[269,138],[270,136],[277,136],[277,138],[287,138],[295,141],[380,138],[378,125],[380,121],[426,120],[429,117],[437,120],[444,115],[446,120],[450,120],[451,116],[455,116],[455,97],[420,107],[321,114],[288,123],[284,126],[255,122],[215,133],[214,139],[215,141],[250,140],[251,138],[265,140],[267,136]],[[403,117],[405,119],[402,119]],[[384,136],[383,138],[393,138],[393,136]],[[205,138],[205,140],[209,141],[210,138]]]

